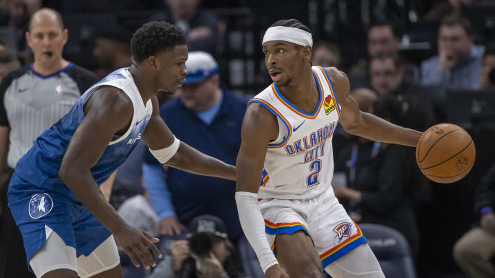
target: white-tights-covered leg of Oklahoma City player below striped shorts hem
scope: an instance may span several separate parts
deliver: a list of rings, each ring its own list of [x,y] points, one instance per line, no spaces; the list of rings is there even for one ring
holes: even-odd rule
[[[367,243],[329,264],[325,271],[333,278],[385,278],[375,254]]]

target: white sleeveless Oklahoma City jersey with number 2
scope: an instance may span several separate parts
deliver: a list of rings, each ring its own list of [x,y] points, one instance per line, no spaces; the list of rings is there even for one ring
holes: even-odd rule
[[[340,106],[331,80],[322,67],[312,67],[320,100],[307,114],[290,103],[275,83],[256,95],[278,119],[278,137],[267,146],[259,198],[307,199],[331,190],[331,139]]]

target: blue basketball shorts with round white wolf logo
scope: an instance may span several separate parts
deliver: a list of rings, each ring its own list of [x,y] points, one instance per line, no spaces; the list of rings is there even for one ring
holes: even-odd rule
[[[76,255],[89,255],[111,232],[80,202],[57,192],[43,191],[14,173],[10,179],[8,206],[21,230],[28,258],[45,246],[45,225],[54,230]]]

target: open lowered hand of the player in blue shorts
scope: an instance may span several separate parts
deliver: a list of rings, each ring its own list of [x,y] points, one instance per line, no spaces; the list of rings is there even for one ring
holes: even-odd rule
[[[137,268],[140,267],[140,263],[136,257],[139,258],[146,269],[149,269],[150,266],[156,266],[155,259],[150,251],[157,257],[162,258],[162,254],[158,251],[157,246],[155,246],[155,242],[159,242],[159,240],[140,229],[126,224],[120,227],[120,229],[113,231],[113,236]]]

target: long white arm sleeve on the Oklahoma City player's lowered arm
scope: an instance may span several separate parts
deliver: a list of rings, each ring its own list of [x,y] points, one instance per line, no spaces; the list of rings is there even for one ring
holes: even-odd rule
[[[244,234],[258,257],[263,273],[266,273],[266,270],[270,266],[278,264],[278,261],[270,249],[270,244],[265,234],[265,221],[261,216],[257,203],[258,194],[236,192],[235,198]]]

